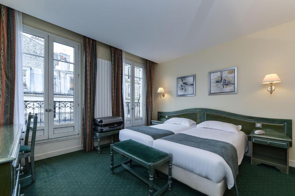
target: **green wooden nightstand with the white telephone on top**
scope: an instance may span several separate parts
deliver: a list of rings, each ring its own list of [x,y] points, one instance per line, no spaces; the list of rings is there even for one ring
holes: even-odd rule
[[[275,166],[282,173],[289,174],[289,142],[292,140],[285,133],[263,129],[265,134],[251,136],[251,164],[264,163]]]

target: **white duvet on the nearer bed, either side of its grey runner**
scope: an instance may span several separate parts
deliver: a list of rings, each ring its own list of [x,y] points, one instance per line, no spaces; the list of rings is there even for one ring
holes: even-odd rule
[[[248,138],[242,131],[231,133],[217,129],[193,128],[182,133],[231,143],[237,149],[239,165],[242,162],[244,153],[248,151]],[[230,166],[215,153],[162,139],[155,140],[153,147],[171,153],[173,155],[172,164],[175,166],[208,178],[215,183],[225,178],[229,189],[234,186]]]

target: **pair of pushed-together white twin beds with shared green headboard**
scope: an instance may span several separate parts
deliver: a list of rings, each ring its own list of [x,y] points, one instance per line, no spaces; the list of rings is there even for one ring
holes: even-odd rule
[[[222,148],[227,147],[227,145],[233,146],[234,151],[228,151],[228,153],[235,154],[233,157],[237,160],[235,160],[236,162],[234,164],[240,165],[244,153],[248,151],[247,135],[255,128],[255,122],[263,123],[264,127],[275,129],[283,133],[289,133],[288,130],[290,128],[290,125],[286,124],[286,121],[283,119],[276,119],[278,122],[274,122],[275,119],[270,120],[266,118],[249,117],[205,108],[158,113],[158,120],[161,121],[167,119],[172,120],[172,118],[175,117],[191,119],[196,123],[180,125],[174,124],[173,122],[169,123],[168,120],[168,123],[150,126],[159,130],[171,131],[172,135],[170,134],[169,136],[161,138],[144,134],[145,132],[140,133],[134,128],[132,128],[133,130],[126,128],[120,131],[119,140],[132,139],[164,152],[171,153],[173,155],[172,177],[206,195],[223,195],[226,187],[231,189],[235,185],[235,177],[237,174],[235,174],[236,172],[234,169],[230,167],[228,161],[226,161],[221,154],[216,152],[219,148],[217,143],[221,143],[223,145]],[[205,121],[207,121],[207,123],[201,123]],[[220,128],[218,126],[216,127],[216,125],[215,127],[212,126],[213,128],[210,126],[202,126],[211,121],[242,125],[242,130],[238,129],[229,132],[227,128],[221,128],[222,125],[220,125]],[[217,125],[219,124],[217,123]],[[198,145],[200,144],[196,144],[208,141],[211,142],[208,143],[211,147],[214,147],[214,141],[216,141],[216,148],[210,150],[207,149],[206,145],[199,147]],[[162,165],[158,167],[157,170],[168,174],[167,168],[167,165]]]

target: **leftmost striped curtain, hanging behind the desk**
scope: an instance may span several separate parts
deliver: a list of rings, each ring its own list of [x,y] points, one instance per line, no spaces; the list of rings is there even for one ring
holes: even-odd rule
[[[1,5],[0,16],[0,125],[13,124],[15,86],[14,9]]]

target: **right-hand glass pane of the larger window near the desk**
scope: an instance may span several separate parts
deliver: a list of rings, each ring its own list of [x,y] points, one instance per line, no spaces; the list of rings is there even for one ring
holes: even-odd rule
[[[54,124],[74,123],[74,48],[53,42]]]

